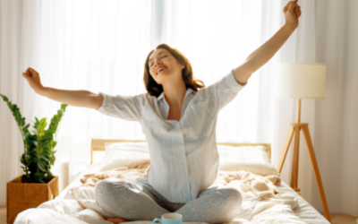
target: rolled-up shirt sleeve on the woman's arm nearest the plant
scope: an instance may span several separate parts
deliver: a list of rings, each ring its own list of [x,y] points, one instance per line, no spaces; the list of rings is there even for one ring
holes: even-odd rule
[[[103,97],[103,103],[98,112],[107,116],[119,117],[127,121],[141,121],[141,103],[143,96],[109,95],[99,92]]]

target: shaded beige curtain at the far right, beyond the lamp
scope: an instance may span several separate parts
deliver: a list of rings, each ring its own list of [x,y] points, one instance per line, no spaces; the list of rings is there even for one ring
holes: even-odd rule
[[[327,64],[315,109],[315,150],[330,211],[358,217],[358,1],[316,1],[316,59]],[[312,180],[314,182],[314,180]],[[321,208],[311,185],[311,203]]]

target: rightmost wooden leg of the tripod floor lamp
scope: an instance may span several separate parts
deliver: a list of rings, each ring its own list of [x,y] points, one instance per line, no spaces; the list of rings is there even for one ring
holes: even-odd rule
[[[319,187],[320,200],[322,202],[323,209],[325,211],[325,216],[326,216],[326,219],[330,223],[332,223],[332,220],[330,220],[330,214],[329,214],[329,211],[328,211],[326,195],[324,194],[324,191],[323,191],[323,185],[322,185],[322,181],[320,179],[320,171],[319,171],[319,167],[317,165],[316,156],[314,154],[313,144],[311,142],[311,135],[310,135],[310,131],[308,130],[308,125],[303,126],[303,134],[304,134],[304,137],[305,137],[305,140],[306,140],[306,143],[307,143],[308,152],[310,153],[311,164],[312,164],[312,168],[313,168],[313,171],[314,171],[314,177],[316,177],[316,182],[317,182],[317,185]]]

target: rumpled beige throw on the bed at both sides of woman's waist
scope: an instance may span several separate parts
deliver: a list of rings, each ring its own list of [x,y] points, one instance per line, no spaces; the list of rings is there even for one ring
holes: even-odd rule
[[[116,177],[135,180],[149,173],[149,159],[133,161],[128,167],[114,168],[104,172],[87,174],[81,178],[83,186],[96,186],[98,181]],[[251,191],[258,198],[263,199],[275,194],[281,194],[276,185],[281,185],[281,178],[277,176],[262,177],[252,174],[249,171],[221,171],[217,172],[217,179],[212,185],[230,185],[234,182],[241,182],[241,190],[245,193]]]

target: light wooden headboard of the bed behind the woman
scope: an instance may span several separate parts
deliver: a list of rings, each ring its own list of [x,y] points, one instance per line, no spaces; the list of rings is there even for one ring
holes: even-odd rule
[[[121,140],[121,139],[92,139],[90,145],[90,164],[93,162],[93,151],[106,151],[105,142],[147,142],[146,140]],[[217,145],[228,146],[257,146],[262,145],[266,147],[268,158],[271,159],[271,144],[270,143],[236,143],[236,142],[217,142]]]

